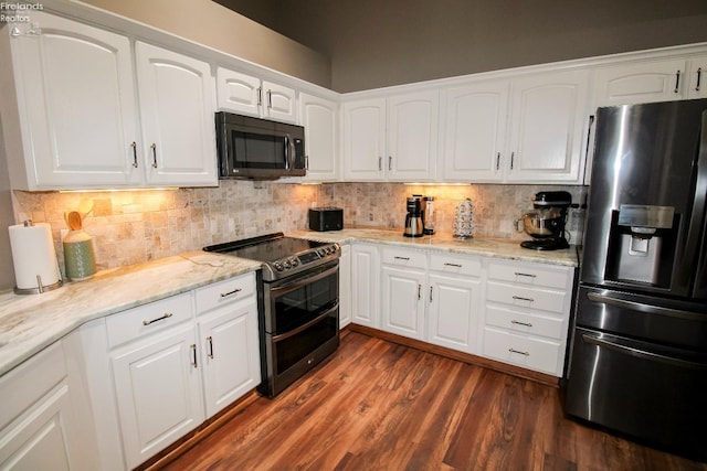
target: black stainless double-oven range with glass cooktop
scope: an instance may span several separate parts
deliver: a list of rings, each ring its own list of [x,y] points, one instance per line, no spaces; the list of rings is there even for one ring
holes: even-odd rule
[[[204,247],[263,263],[258,392],[272,397],[339,346],[338,244],[282,233]]]

